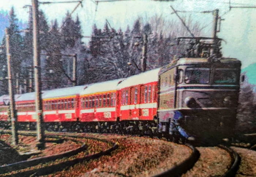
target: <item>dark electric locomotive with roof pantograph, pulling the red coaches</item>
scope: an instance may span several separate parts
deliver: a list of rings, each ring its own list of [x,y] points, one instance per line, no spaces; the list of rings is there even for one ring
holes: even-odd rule
[[[219,38],[177,40],[186,53],[159,71],[158,131],[173,139],[230,137],[236,125],[241,62],[221,57]]]

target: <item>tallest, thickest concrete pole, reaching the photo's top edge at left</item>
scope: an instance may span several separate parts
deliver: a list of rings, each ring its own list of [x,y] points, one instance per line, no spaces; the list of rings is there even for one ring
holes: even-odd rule
[[[33,15],[33,58],[34,58],[34,84],[35,84],[35,112],[37,116],[37,147],[45,148],[45,135],[42,115],[42,82],[41,82],[41,61],[38,30],[38,0],[32,0]]]

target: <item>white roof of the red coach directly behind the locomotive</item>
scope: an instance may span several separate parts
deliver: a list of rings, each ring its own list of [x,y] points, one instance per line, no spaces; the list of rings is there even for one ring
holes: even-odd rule
[[[135,86],[139,84],[146,84],[150,82],[158,81],[158,72],[161,68],[152,69],[150,71],[143,72],[138,75],[130,76],[126,78],[123,82],[118,84],[118,89],[123,89],[125,87]]]

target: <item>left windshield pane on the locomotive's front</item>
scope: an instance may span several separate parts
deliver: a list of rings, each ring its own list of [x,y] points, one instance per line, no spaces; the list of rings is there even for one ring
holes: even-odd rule
[[[207,84],[210,81],[210,68],[188,67],[185,71],[185,83]]]

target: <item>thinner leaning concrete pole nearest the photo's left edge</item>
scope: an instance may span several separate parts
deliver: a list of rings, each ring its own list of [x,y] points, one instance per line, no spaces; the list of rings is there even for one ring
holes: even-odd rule
[[[9,86],[9,96],[10,96],[10,118],[12,125],[12,144],[17,145],[19,143],[18,139],[18,129],[16,128],[17,124],[17,111],[15,109],[15,96],[13,88],[13,74],[11,68],[11,53],[10,53],[10,43],[9,43],[9,34],[8,29],[5,29],[5,42],[6,42],[6,55],[7,55],[7,69],[8,69],[8,86]]]

